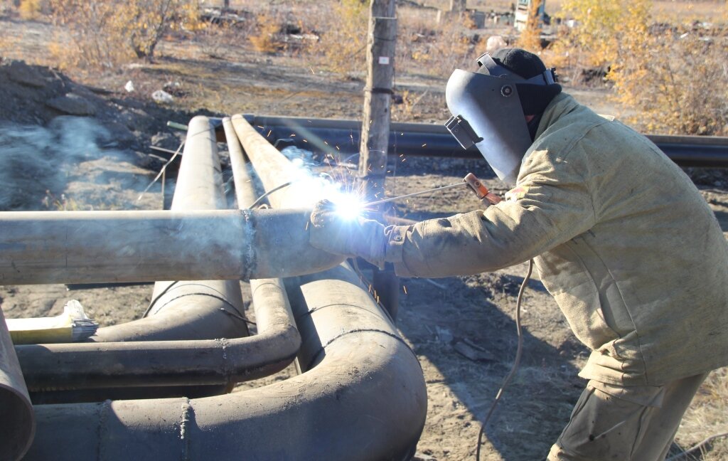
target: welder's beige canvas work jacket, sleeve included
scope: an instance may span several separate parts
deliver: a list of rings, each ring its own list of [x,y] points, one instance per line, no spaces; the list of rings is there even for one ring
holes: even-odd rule
[[[577,338],[579,376],[663,385],[728,365],[728,245],[692,181],[644,136],[564,93],[507,200],[390,226],[397,275],[490,272],[534,259]]]

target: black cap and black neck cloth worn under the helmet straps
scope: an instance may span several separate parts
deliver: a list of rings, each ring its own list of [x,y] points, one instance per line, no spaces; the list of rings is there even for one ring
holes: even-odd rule
[[[509,71],[522,76],[524,79],[543,74],[546,71],[543,61],[534,53],[521,48],[501,48],[494,52],[491,58]],[[521,108],[524,115],[542,114],[551,100],[561,92],[561,85],[553,84],[516,84],[518,97],[521,98]]]

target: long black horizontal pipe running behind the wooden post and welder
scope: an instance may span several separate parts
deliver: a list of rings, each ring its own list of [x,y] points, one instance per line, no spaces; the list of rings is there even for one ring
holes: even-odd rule
[[[280,138],[291,138],[301,149],[332,153],[343,151],[348,154],[357,154],[359,151],[361,122],[356,120],[264,117],[251,114],[244,117],[271,142]],[[291,137],[291,134],[295,136]],[[728,138],[646,136],[682,167],[728,168]],[[389,130],[389,151],[414,157],[483,158],[478,149],[462,149],[443,125],[425,123],[392,123]]]

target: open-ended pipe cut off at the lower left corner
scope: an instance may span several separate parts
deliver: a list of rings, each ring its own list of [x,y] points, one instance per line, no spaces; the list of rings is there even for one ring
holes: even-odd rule
[[[20,460],[31,446],[35,417],[0,309],[0,460]]]

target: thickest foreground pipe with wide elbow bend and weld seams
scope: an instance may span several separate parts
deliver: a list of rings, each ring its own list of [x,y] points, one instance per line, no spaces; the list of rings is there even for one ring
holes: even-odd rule
[[[427,413],[414,353],[348,267],[297,291],[304,374],[197,400],[36,406],[25,459],[411,459]]]

